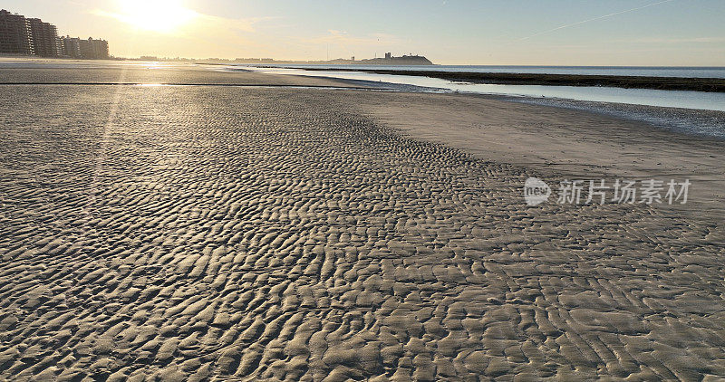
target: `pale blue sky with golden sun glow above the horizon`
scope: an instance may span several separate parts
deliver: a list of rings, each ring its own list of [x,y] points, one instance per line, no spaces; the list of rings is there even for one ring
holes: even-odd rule
[[[3,0],[111,54],[725,66],[725,0]]]

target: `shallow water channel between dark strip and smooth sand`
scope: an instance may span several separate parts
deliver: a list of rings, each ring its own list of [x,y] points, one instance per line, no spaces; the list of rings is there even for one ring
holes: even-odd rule
[[[238,67],[231,69],[239,70]],[[476,84],[420,76],[287,68],[248,67],[245,70],[382,82],[403,91],[460,91],[499,95],[507,100],[594,111],[617,118],[644,121],[683,134],[725,139],[725,93]]]

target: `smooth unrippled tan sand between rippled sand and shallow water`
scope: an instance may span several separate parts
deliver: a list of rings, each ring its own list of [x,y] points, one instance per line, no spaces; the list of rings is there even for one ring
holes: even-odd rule
[[[378,123],[476,158],[524,167],[546,178],[550,186],[564,179],[687,178],[693,184],[688,203],[658,205],[658,209],[697,219],[725,217],[725,141],[721,139],[487,96],[380,93],[355,97],[361,110]],[[708,112],[712,118],[725,119],[725,112]]]

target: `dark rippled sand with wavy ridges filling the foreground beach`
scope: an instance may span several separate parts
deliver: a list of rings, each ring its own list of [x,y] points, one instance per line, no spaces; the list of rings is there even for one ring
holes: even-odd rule
[[[721,228],[339,92],[2,88],[0,378],[725,377]]]

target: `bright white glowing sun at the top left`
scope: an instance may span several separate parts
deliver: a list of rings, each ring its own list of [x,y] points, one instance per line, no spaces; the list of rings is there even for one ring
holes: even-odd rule
[[[119,6],[121,21],[152,32],[177,32],[198,16],[180,0],[119,0]]]

